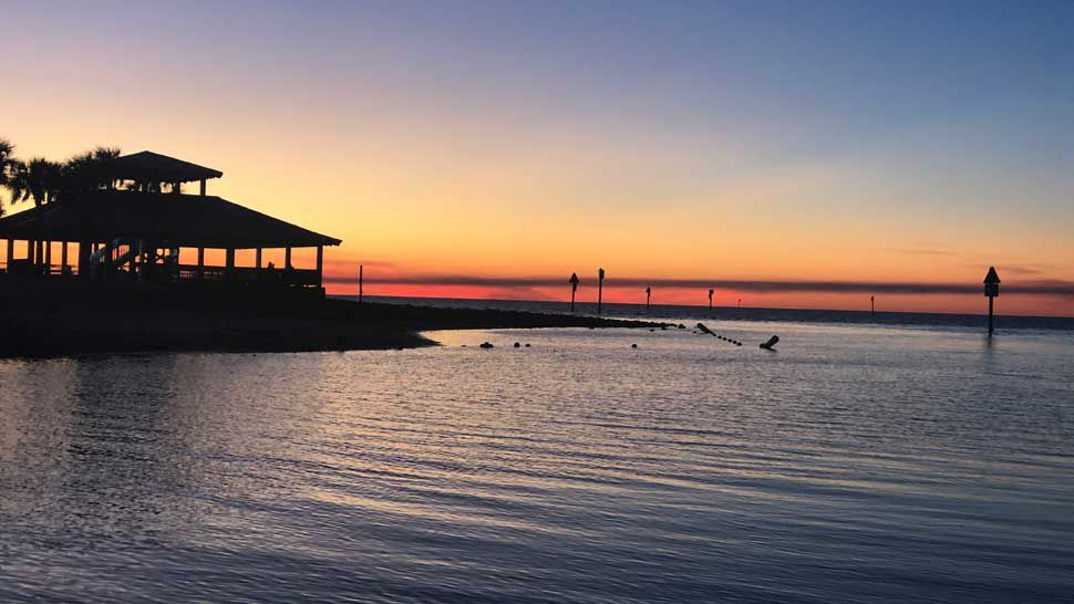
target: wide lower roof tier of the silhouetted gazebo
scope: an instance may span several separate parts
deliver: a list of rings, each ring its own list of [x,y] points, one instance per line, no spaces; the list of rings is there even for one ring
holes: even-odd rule
[[[0,239],[107,241],[117,238],[146,239],[162,247],[235,249],[308,248],[342,242],[219,197],[179,194],[101,190],[0,219]]]

